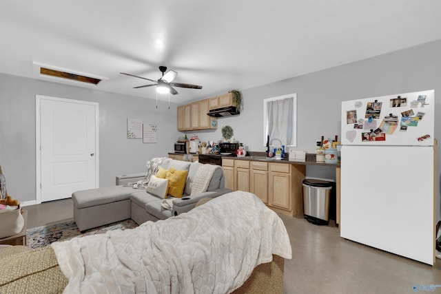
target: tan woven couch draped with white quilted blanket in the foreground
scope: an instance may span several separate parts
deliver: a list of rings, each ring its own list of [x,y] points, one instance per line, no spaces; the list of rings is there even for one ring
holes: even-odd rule
[[[0,293],[283,293],[291,258],[282,220],[243,191],[136,229],[5,250]]]

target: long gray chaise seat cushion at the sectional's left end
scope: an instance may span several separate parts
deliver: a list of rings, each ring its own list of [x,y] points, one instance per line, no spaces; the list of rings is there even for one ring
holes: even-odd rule
[[[77,209],[93,207],[130,198],[130,193],[136,191],[132,187],[112,186],[97,189],[75,191],[72,200]]]

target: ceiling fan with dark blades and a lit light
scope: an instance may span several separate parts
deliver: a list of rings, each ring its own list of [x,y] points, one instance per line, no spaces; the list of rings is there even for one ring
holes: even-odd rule
[[[135,78],[142,78],[143,80],[151,81],[154,83],[154,84],[150,84],[150,85],[142,85],[142,86],[134,87],[134,89],[139,89],[142,87],[156,86],[157,92],[159,92],[159,93],[172,93],[173,95],[178,94],[178,91],[174,90],[174,87],[202,89],[202,86],[199,86],[199,85],[172,83],[172,81],[174,80],[174,78],[176,78],[178,73],[175,72],[174,70],[169,70],[168,72],[166,72],[167,71],[166,66],[160,66],[159,70],[163,73],[163,76],[161,76],[161,78],[159,78],[158,81],[152,80],[150,78],[143,78],[142,76],[135,76],[134,74],[126,74],[125,72],[121,72],[120,74],[125,74],[126,76],[134,76]]]

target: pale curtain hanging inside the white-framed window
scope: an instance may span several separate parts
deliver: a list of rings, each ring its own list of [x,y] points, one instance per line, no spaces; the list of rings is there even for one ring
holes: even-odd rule
[[[271,146],[292,145],[294,99],[285,98],[267,104],[268,134]],[[280,141],[279,141],[280,140]]]

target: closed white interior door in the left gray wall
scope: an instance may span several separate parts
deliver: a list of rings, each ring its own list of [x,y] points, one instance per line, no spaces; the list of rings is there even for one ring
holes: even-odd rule
[[[97,103],[37,96],[41,170],[37,202],[70,198],[74,191],[98,187],[97,118]]]

